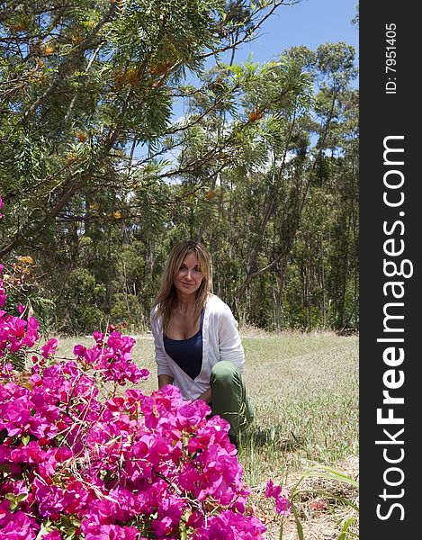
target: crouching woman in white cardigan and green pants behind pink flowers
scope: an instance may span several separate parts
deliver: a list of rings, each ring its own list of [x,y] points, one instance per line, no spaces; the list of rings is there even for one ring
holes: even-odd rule
[[[254,417],[242,381],[245,353],[229,306],[210,291],[206,248],[193,240],[175,245],[151,311],[158,388],[175,384],[184,400],[206,401],[238,444]]]

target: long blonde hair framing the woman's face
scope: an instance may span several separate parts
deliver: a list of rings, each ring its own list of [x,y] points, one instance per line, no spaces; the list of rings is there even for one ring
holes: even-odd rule
[[[202,272],[202,283],[196,292],[196,305],[194,320],[197,320],[202,308],[211,292],[211,255],[201,242],[187,240],[172,247],[161,278],[161,286],[154,300],[154,306],[158,306],[155,316],[162,318],[163,329],[166,333],[170,324],[172,311],[177,303],[177,292],[175,289],[175,275],[184,262],[184,257],[189,253],[194,253],[198,257],[198,263]]]

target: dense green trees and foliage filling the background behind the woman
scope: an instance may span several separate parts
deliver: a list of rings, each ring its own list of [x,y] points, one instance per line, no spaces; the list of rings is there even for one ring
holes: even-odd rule
[[[296,3],[0,2],[11,304],[46,332],[144,331],[169,248],[194,238],[241,324],[358,329],[355,49],[236,63]]]

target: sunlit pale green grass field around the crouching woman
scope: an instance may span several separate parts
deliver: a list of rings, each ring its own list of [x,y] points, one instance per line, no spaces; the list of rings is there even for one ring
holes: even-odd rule
[[[332,465],[357,476],[358,338],[330,333],[242,335],[246,353],[245,381],[254,403],[256,422],[244,436],[239,460],[251,488],[256,515],[268,527],[266,538],[279,537],[279,523],[264,491],[268,478],[287,488],[310,462]],[[60,340],[58,354],[72,356],[74,345],[92,338]],[[150,370],[141,389],[156,388],[154,345],[150,336],[137,338],[134,358]],[[319,482],[319,481],[318,481]],[[315,491],[341,491],[336,484],[315,480],[302,497],[301,521],[306,540],[338,538],[348,508],[337,508]],[[318,490],[317,490],[318,488]],[[345,488],[346,489],[346,488]],[[356,498],[355,491],[340,495]],[[340,518],[338,518],[340,515]],[[297,538],[289,518],[284,540]]]

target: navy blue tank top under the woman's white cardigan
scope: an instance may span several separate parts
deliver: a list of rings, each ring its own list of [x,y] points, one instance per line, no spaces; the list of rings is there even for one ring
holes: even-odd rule
[[[164,348],[170,358],[188,374],[191,379],[195,379],[202,369],[202,325],[204,309],[201,312],[200,328],[192,338],[171,339],[164,336]]]

